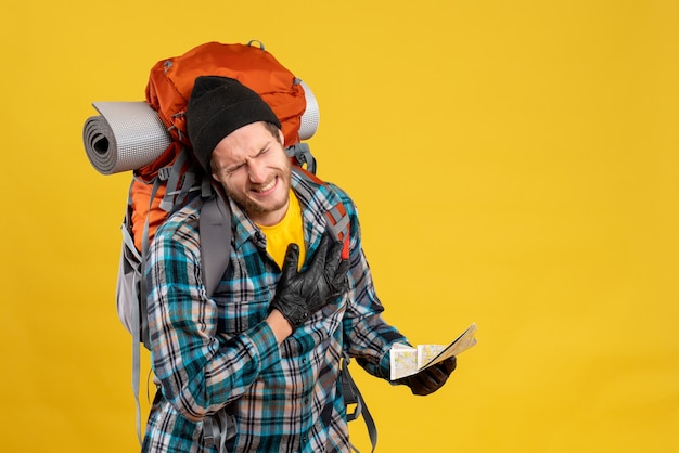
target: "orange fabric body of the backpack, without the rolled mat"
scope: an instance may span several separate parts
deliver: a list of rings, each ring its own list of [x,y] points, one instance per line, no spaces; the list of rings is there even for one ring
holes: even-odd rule
[[[155,230],[196,190],[193,184],[197,183],[195,173],[200,170],[185,148],[191,142],[184,114],[193,81],[198,76],[231,77],[257,92],[281,121],[284,145],[295,150],[296,164],[312,165],[308,148],[299,147],[308,87],[264,50],[261,43],[253,46],[254,42],[207,42],[183,55],[161,60],[151,68],[146,102],[157,112],[172,141],[162,156],[134,171],[129,220],[138,250],[145,251]]]

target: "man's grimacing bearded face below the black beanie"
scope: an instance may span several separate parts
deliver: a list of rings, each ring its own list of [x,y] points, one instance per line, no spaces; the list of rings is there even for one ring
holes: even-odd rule
[[[234,130],[213,152],[213,178],[255,222],[279,223],[287,211],[291,163],[264,122]]]

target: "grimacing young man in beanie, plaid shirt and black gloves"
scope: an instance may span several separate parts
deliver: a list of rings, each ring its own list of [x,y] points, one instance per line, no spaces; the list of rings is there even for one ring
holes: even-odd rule
[[[226,406],[236,427],[229,452],[348,452],[343,353],[388,379],[389,349],[407,342],[382,319],[356,207],[291,168],[278,118],[236,80],[198,77],[187,121],[197,160],[231,205],[230,266],[206,297],[200,198],[156,232],[146,279],[162,387],[143,451],[209,451],[202,420]],[[338,204],[348,256],[324,216]],[[454,366],[452,358],[399,384],[428,394]]]

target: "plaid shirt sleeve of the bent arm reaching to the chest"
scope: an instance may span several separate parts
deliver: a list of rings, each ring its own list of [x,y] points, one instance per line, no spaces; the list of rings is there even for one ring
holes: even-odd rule
[[[227,342],[217,338],[218,308],[201,282],[197,233],[191,233],[187,222],[158,230],[145,284],[154,373],[170,404],[200,420],[242,396],[280,355],[266,322]]]

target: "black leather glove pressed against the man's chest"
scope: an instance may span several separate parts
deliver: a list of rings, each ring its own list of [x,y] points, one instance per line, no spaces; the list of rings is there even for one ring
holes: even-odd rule
[[[343,260],[342,242],[330,246],[331,237],[321,238],[311,263],[297,272],[299,247],[290,244],[283,260],[283,274],[276,288],[269,311],[279,310],[293,331],[299,327],[317,310],[325,307],[347,292],[349,260]]]

